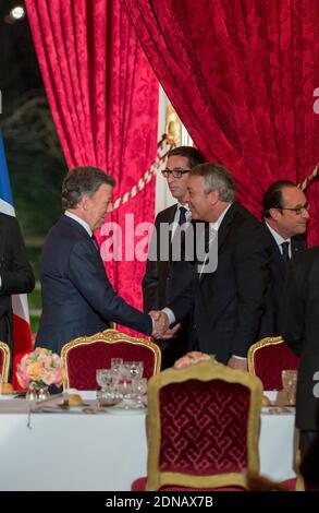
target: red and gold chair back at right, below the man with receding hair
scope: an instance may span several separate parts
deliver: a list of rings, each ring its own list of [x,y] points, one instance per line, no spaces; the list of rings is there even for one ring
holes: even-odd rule
[[[281,336],[262,338],[249,347],[248,371],[258,375],[265,390],[281,390],[281,371],[298,367],[299,358]]]

